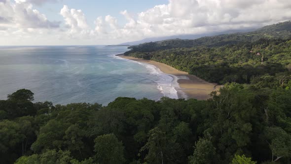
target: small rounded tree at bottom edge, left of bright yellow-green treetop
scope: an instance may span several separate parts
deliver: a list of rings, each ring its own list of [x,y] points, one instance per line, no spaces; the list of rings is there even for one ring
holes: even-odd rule
[[[200,138],[194,146],[193,156],[189,157],[189,164],[211,164],[215,157],[215,148],[206,138]]]

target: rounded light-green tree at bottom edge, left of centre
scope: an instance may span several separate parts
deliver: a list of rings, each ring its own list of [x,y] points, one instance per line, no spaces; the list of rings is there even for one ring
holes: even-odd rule
[[[123,164],[124,147],[114,134],[105,134],[98,136],[94,140],[95,160],[99,164]]]

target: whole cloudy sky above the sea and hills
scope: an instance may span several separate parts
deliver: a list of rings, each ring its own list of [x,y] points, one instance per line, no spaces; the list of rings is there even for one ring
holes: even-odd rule
[[[259,28],[291,0],[0,0],[0,45],[105,45]]]

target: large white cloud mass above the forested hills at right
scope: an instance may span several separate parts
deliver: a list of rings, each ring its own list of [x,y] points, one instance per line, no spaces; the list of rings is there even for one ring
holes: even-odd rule
[[[131,27],[148,37],[260,27],[289,19],[290,0],[169,0],[129,22],[137,22]]]

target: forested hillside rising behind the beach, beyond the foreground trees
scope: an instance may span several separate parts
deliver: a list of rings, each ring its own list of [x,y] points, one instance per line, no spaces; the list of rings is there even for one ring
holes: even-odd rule
[[[251,33],[149,42],[129,47],[125,55],[161,62],[208,82],[254,83],[264,76],[290,75],[290,36],[288,21]]]

